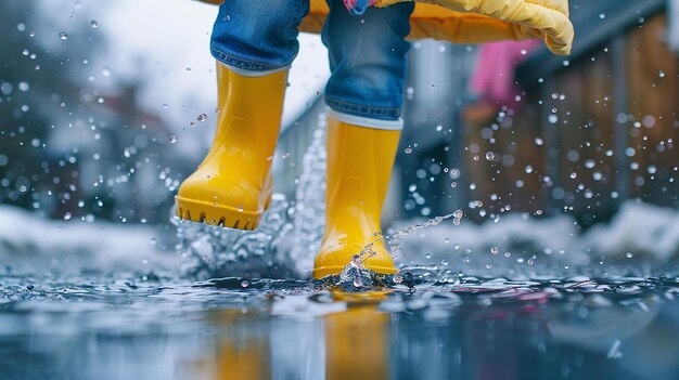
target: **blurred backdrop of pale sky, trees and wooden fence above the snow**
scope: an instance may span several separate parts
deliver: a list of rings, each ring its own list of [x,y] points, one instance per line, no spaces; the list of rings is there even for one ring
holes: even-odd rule
[[[474,223],[566,214],[587,230],[630,201],[677,220],[678,2],[571,0],[568,57],[536,42],[413,42],[385,222],[463,209]],[[167,228],[216,120],[215,13],[188,0],[0,1],[0,212]],[[300,41],[276,156],[287,199],[329,76],[318,36]]]

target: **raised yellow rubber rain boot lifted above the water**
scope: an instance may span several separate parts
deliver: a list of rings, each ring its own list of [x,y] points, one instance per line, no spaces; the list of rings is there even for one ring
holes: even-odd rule
[[[181,219],[255,230],[272,193],[271,161],[287,71],[244,77],[217,64],[219,117],[207,156],[179,186]]]

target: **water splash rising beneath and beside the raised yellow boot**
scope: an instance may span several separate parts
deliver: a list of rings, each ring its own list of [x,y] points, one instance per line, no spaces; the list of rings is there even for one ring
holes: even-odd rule
[[[303,158],[303,172],[291,205],[274,194],[256,231],[216,228],[171,220],[178,250],[187,260],[183,273],[194,278],[223,276],[308,277],[323,236],[325,212],[325,117]]]

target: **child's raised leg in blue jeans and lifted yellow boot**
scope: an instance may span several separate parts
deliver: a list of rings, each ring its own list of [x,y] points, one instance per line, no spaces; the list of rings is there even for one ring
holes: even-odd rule
[[[308,0],[228,0],[212,40],[219,116],[213,146],[179,187],[180,218],[254,230],[271,197],[287,68]]]

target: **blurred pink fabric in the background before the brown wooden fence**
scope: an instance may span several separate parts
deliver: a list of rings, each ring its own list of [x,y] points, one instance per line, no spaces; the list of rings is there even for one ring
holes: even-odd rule
[[[516,66],[540,45],[540,41],[486,43],[478,52],[478,63],[470,82],[471,91],[499,106],[516,105],[521,89],[516,86]]]

